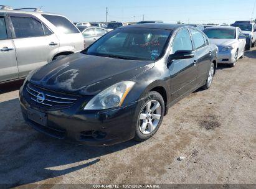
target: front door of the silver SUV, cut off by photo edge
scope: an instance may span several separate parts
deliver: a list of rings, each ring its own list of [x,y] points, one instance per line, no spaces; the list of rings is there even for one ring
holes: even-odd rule
[[[11,39],[8,21],[0,13],[0,82],[18,78],[15,47]]]

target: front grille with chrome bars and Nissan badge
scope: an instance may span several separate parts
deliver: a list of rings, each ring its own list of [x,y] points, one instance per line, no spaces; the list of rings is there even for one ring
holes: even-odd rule
[[[42,104],[48,108],[52,108],[54,106],[71,106],[77,100],[77,96],[60,94],[55,91],[45,90],[31,84],[28,84],[26,86],[26,91],[29,94],[30,99],[34,101],[34,103]],[[38,99],[39,94],[44,95],[44,100]]]

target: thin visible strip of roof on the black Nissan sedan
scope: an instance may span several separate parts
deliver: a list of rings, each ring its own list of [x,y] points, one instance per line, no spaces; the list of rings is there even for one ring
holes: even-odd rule
[[[151,24],[134,24],[126,25],[121,28],[149,28],[149,29],[166,29],[166,30],[176,30],[181,27],[188,27],[185,24],[162,24],[162,23],[151,23]]]

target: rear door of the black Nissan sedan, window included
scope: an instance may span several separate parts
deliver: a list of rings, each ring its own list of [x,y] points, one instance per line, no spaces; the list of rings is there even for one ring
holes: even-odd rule
[[[212,52],[206,35],[199,30],[189,29],[194,46],[194,66],[198,68],[197,86],[206,82],[211,65]]]

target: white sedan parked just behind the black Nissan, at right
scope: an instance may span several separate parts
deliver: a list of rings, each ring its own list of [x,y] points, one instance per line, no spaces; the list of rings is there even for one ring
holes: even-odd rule
[[[234,67],[237,59],[244,57],[246,41],[239,27],[208,27],[204,33],[219,48],[218,63],[227,63]]]

